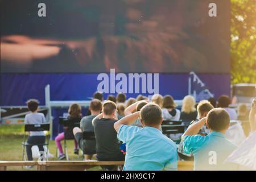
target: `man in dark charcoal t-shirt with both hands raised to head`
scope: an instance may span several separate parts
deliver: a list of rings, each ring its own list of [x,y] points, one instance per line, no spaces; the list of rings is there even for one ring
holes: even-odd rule
[[[105,101],[102,113],[93,119],[94,133],[96,138],[97,159],[100,161],[123,161],[125,155],[119,148],[117,132],[114,130],[114,123],[117,121],[115,111],[117,106],[112,101]],[[106,169],[113,170],[114,166],[106,166]]]

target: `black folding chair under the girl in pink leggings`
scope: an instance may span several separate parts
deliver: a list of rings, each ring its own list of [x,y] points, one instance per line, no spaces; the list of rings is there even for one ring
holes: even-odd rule
[[[59,118],[59,126],[62,125],[64,128],[64,154],[66,156],[66,159],[69,160],[68,157],[68,148],[67,148],[67,142],[66,140],[75,140],[75,136],[73,133],[71,135],[67,134],[67,130],[65,127],[69,128],[70,130],[73,130],[74,127],[80,127],[80,121],[79,118]],[[59,127],[58,127],[58,133],[59,133]]]

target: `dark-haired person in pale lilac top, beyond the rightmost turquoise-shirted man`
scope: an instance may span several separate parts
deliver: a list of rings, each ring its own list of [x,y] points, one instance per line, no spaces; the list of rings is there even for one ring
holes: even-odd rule
[[[229,113],[229,117],[231,120],[237,119],[236,110],[230,108],[229,105],[231,104],[231,100],[229,96],[222,95],[218,98],[218,107],[225,109]]]

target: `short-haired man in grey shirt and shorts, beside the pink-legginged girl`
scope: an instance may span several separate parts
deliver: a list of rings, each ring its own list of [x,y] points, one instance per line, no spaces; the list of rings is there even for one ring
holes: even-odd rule
[[[81,119],[80,128],[75,127],[73,129],[73,134],[77,143],[79,143],[79,147],[84,153],[84,159],[90,160],[92,159],[93,154],[96,154],[96,141],[95,140],[83,140],[82,132],[89,131],[94,133],[94,127],[92,126],[92,120],[98,114],[101,113],[102,104],[101,101],[94,98],[89,105],[89,110],[92,115],[87,115]]]

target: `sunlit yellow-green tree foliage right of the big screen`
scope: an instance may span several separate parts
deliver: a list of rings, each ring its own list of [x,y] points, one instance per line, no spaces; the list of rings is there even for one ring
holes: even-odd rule
[[[256,83],[256,0],[231,0],[232,83]]]

